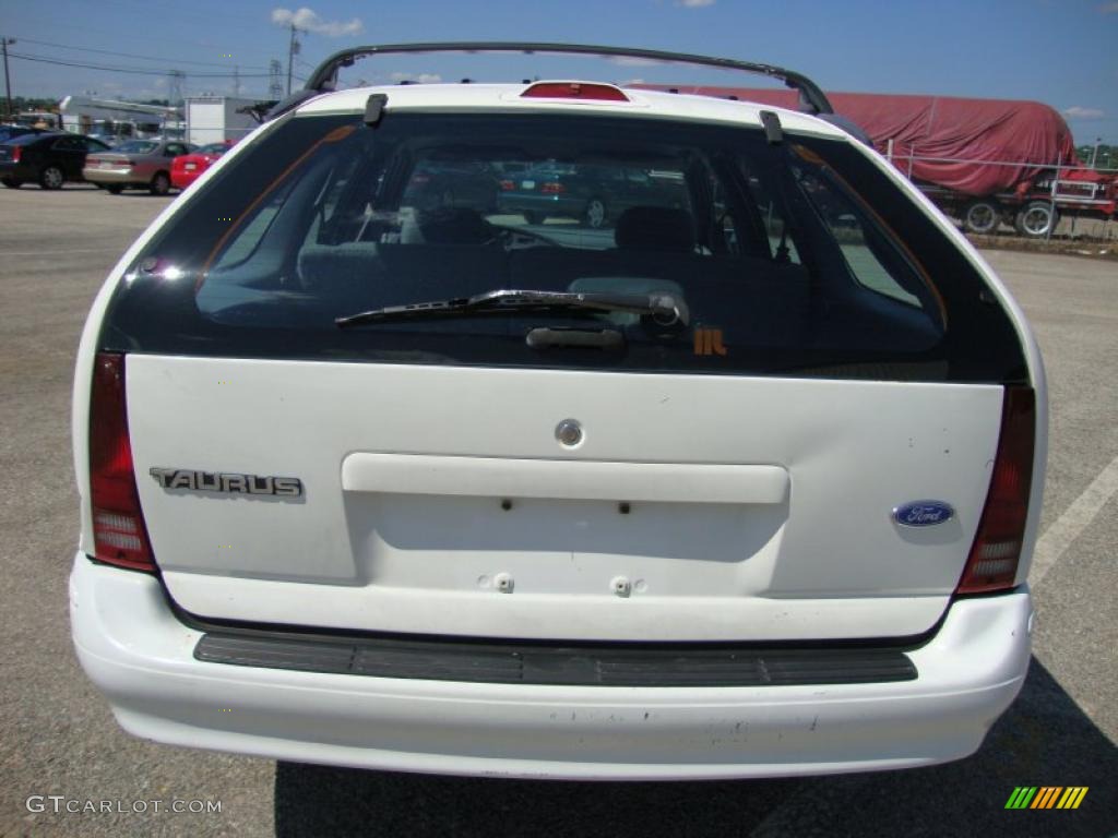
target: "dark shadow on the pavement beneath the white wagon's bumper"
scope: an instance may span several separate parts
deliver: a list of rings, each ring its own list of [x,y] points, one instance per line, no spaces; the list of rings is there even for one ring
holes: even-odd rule
[[[1089,787],[1079,809],[1007,810],[1018,785]],[[281,762],[277,836],[1110,836],[1118,750],[1035,658],[961,762],[800,780],[591,783]]]

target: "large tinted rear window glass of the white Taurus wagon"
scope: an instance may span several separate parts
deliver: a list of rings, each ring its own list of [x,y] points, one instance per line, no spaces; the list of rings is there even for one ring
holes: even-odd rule
[[[498,289],[666,293],[689,317],[672,328],[571,310],[334,323]],[[262,358],[1023,374],[1012,328],[980,289],[957,249],[845,143],[606,116],[389,111],[377,127],[357,116],[274,125],[131,266],[105,340]],[[527,340],[540,328],[620,340],[541,350]]]

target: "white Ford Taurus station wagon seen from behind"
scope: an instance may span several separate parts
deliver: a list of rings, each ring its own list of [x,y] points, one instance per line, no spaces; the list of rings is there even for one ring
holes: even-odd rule
[[[746,69],[804,107],[333,89],[451,49]],[[70,617],[126,731],[617,780],[980,745],[1030,660],[1040,353],[814,84],[404,45],[334,56],[277,111],[124,255],[82,337]],[[560,194],[548,170],[627,179],[626,206],[502,210]]]

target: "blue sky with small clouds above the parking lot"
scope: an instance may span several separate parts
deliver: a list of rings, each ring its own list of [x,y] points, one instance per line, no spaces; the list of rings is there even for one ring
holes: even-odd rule
[[[296,87],[325,56],[358,44],[601,44],[776,64],[828,91],[1035,99],[1064,115],[1078,144],[1118,144],[1118,0],[311,0],[309,8],[274,0],[0,0],[0,37],[17,40],[9,47],[16,96],[163,98],[177,69],[186,74],[186,95],[233,94],[239,82],[241,96],[266,98],[271,59],[283,63],[286,84],[291,22],[303,30]],[[719,72],[681,73],[426,55],[368,59],[343,80],[591,76],[752,85]]]

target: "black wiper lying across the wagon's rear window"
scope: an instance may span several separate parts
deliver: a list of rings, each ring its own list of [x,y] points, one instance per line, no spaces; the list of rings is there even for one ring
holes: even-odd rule
[[[515,291],[502,288],[472,297],[438,299],[408,305],[389,305],[359,314],[338,317],[339,328],[394,320],[440,317],[505,311],[562,311],[589,308],[599,312],[627,312],[650,316],[661,326],[688,324],[689,313],[683,299],[674,294],[608,294],[598,292]]]

